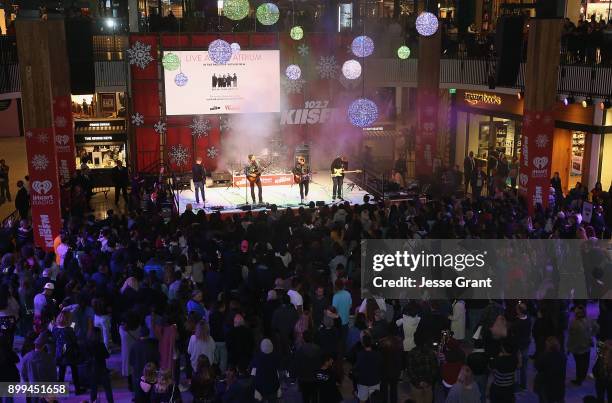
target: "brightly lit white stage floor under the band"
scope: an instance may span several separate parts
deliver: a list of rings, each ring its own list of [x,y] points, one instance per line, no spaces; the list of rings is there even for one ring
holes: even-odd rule
[[[210,184],[210,180],[208,184]],[[245,193],[246,189],[246,193]],[[332,180],[329,175],[315,174],[310,182],[308,192],[309,201],[324,201],[329,204],[332,202]],[[363,196],[366,191],[354,185],[348,178],[344,179],[343,188],[344,200],[351,204],[363,203]],[[193,210],[198,211],[204,208],[207,213],[212,213],[216,210],[221,210],[224,213],[241,211],[239,206],[244,205],[245,196],[248,203],[251,202],[250,187],[206,187],[206,205],[203,206],[195,203],[195,193],[193,191],[193,183],[190,190],[183,190],[179,194],[179,212],[185,211],[188,203],[193,205]],[[255,188],[255,196],[257,197],[257,187]],[[299,207],[300,205],[300,188],[298,185],[280,185],[280,186],[264,186],[263,187],[264,203],[276,204],[279,208]],[[253,206],[253,210],[263,210],[265,206]]]

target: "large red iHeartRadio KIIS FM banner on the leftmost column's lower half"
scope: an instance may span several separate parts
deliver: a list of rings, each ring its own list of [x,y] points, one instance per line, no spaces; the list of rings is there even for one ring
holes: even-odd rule
[[[53,128],[26,130],[30,203],[34,243],[53,250],[53,240],[61,229],[60,187]]]

